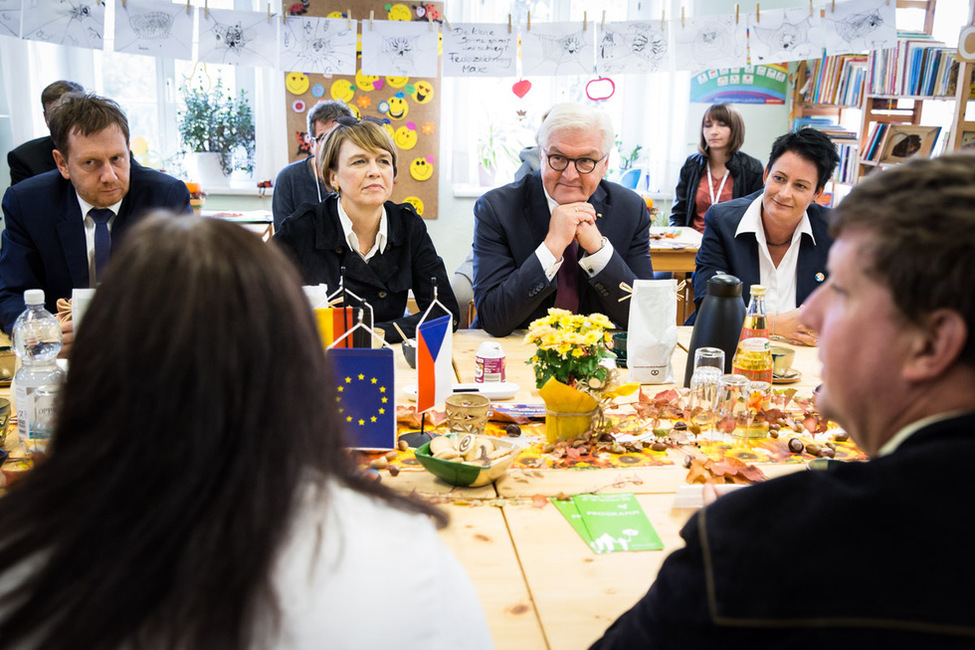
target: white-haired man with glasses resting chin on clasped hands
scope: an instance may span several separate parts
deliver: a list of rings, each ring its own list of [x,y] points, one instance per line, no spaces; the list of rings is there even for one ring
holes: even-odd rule
[[[541,169],[478,199],[473,327],[506,336],[550,307],[627,326],[623,286],[653,277],[650,216],[603,179],[613,136],[605,113],[557,104],[538,130]]]

